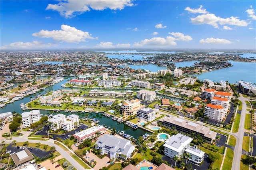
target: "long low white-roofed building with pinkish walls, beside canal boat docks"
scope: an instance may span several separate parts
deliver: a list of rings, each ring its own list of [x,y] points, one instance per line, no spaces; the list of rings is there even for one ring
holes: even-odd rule
[[[83,130],[81,132],[75,133],[73,136],[76,139],[76,141],[81,144],[84,142],[85,139],[92,139],[97,137],[100,134],[103,134],[106,132],[106,128],[100,125],[87,128],[86,130]]]

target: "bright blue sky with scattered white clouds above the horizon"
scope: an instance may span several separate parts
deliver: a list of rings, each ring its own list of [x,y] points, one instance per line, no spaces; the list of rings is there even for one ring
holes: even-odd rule
[[[1,50],[253,49],[255,1],[0,1]]]

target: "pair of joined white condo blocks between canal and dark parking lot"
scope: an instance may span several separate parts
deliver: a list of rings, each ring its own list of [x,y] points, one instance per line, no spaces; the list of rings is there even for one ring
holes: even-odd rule
[[[58,115],[54,115],[53,118],[48,120],[48,122],[50,122],[49,128],[54,131],[59,128],[70,131],[75,128],[75,124],[78,125],[79,116],[72,114],[66,117],[66,115],[60,113]]]

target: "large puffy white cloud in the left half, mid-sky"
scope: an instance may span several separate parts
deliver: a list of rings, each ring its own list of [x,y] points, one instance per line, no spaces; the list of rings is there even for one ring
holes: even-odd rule
[[[40,32],[32,34],[32,36],[41,38],[53,38],[53,40],[67,43],[79,43],[85,42],[86,39],[98,39],[93,38],[92,35],[88,32],[83,32],[67,25],[61,25],[61,30],[41,30]]]

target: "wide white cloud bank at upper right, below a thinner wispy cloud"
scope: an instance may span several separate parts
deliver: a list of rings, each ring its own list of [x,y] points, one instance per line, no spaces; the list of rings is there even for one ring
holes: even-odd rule
[[[234,26],[248,26],[245,20],[239,20],[238,17],[231,16],[229,18],[221,18],[217,17],[214,14],[202,14],[197,16],[196,18],[190,19],[192,24],[209,24],[214,26],[214,28],[219,28],[218,24],[220,25],[234,25]]]

